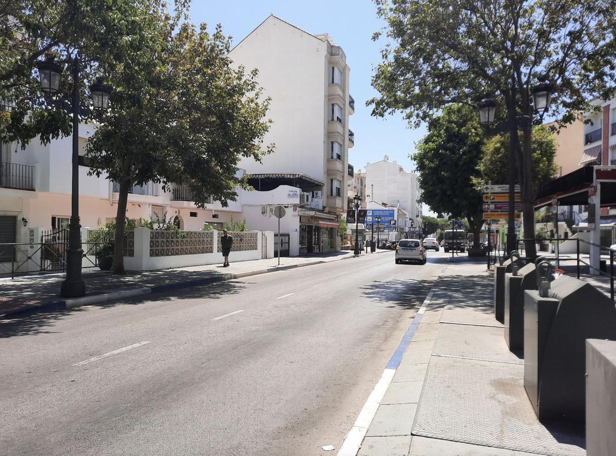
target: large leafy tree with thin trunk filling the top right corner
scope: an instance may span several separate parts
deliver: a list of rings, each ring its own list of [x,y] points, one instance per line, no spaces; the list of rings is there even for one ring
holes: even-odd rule
[[[542,80],[554,85],[549,114],[561,124],[590,110],[593,97],[613,96],[614,0],[375,2],[387,44],[373,76],[380,96],[368,101],[373,115],[402,111],[418,125],[448,104],[496,94],[517,151],[524,231],[534,232],[531,125],[519,118],[533,115],[532,87]],[[526,250],[534,256],[534,243]]]

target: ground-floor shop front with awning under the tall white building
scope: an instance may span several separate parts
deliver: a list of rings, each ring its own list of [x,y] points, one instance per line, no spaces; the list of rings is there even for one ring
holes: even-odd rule
[[[333,214],[299,211],[299,254],[339,250],[340,224]]]

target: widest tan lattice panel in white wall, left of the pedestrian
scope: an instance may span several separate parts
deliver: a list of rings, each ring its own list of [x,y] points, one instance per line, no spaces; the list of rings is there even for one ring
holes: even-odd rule
[[[213,231],[150,231],[150,256],[194,255],[213,252]]]

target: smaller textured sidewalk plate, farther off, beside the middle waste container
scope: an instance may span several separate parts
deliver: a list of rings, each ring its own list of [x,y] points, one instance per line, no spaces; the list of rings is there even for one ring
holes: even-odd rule
[[[470,325],[440,325],[434,355],[524,364],[505,342],[503,328]]]

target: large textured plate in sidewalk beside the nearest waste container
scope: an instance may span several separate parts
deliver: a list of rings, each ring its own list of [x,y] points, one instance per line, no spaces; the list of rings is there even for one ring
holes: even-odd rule
[[[515,364],[432,357],[412,433],[549,456],[585,456],[584,430],[542,425]]]

